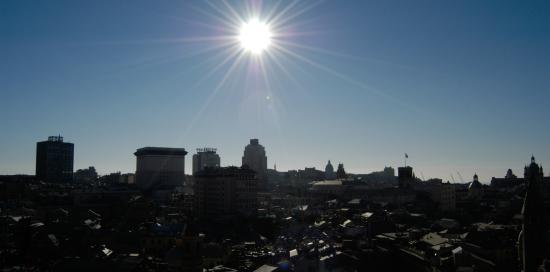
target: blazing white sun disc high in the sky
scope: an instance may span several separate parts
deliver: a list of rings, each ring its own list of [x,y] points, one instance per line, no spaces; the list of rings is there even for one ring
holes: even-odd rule
[[[242,48],[253,54],[260,54],[266,50],[271,44],[271,36],[269,26],[258,19],[244,23],[239,31]]]

